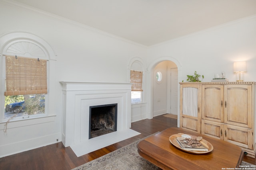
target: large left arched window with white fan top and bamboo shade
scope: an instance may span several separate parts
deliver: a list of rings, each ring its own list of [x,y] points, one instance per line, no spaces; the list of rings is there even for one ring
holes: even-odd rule
[[[51,47],[25,32],[2,35],[0,44],[1,120],[48,115],[49,80],[55,75],[50,64],[56,60]]]

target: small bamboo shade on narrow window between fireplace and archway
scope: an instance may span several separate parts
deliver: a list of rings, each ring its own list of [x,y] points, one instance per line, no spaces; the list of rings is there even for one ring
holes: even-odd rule
[[[142,73],[141,71],[130,71],[130,82],[132,84],[132,91],[142,92]]]

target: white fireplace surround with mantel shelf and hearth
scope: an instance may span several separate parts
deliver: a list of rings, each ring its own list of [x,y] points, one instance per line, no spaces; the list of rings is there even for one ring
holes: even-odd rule
[[[88,152],[92,152],[96,140],[104,140],[105,145],[108,146],[124,140],[121,136],[127,139],[140,134],[136,132],[132,133],[132,136],[124,135],[124,132],[132,131],[129,129],[131,127],[131,83],[70,81],[60,83],[63,94],[62,143],[65,147],[70,146],[72,149],[81,150],[81,146],[86,146],[86,149],[90,148]],[[105,104],[118,104],[117,131],[89,139],[89,107]],[[112,141],[111,135],[115,135],[112,137],[115,141]],[[118,137],[121,138],[118,139]],[[98,147],[105,147],[105,145]]]

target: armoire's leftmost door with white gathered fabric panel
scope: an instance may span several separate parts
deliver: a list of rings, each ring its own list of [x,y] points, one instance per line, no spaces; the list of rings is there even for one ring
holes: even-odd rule
[[[201,85],[180,85],[180,127],[200,133]]]

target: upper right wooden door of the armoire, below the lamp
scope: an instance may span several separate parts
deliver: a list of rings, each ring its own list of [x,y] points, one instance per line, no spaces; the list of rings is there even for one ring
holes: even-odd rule
[[[226,85],[224,94],[224,123],[252,128],[252,85]]]

